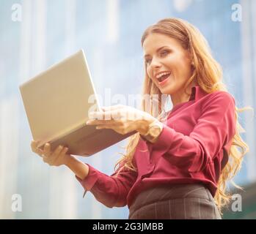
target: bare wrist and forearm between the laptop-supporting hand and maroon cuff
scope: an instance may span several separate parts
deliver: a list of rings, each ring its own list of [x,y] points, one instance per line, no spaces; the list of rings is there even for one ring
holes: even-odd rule
[[[78,178],[81,178],[81,180],[84,180],[89,173],[89,167],[77,159],[76,156],[68,156],[67,159],[65,159],[65,165],[69,167]]]

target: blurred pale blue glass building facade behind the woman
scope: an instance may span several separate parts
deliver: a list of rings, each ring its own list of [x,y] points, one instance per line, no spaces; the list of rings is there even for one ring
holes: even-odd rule
[[[254,0],[1,0],[0,219],[126,219],[128,208],[107,208],[65,167],[48,167],[32,153],[32,135],[18,86],[83,48],[101,105],[129,105],[117,94],[140,94],[141,37],[162,18],[197,26],[222,64],[238,107],[256,107]],[[68,110],[67,110],[68,111]],[[255,115],[241,113],[250,151],[235,182],[256,181]],[[81,158],[111,175],[126,141]],[[15,211],[18,195],[22,210]],[[256,208],[255,208],[256,210]],[[256,218],[256,216],[255,216]]]

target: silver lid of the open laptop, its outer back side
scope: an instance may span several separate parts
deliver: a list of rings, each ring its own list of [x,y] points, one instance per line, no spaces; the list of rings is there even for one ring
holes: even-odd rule
[[[42,144],[81,127],[89,110],[100,110],[83,50],[23,83],[20,91],[32,136]]]

